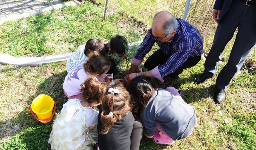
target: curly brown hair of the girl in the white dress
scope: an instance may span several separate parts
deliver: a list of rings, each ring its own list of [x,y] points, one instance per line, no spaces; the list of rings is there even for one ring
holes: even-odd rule
[[[82,99],[88,103],[101,103],[101,97],[106,94],[107,87],[106,82],[99,82],[95,77],[89,76],[81,84]]]

